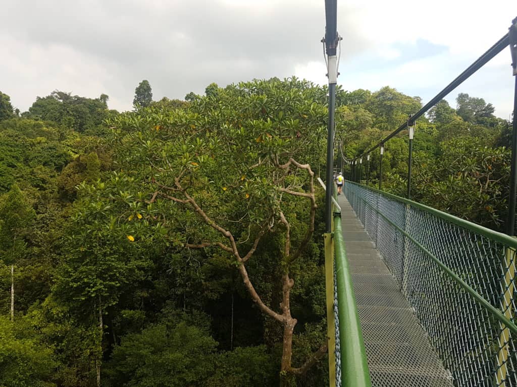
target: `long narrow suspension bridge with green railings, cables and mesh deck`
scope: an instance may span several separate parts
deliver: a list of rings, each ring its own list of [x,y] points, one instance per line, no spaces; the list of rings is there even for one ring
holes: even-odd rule
[[[517,387],[517,18],[507,34],[371,149],[333,186],[336,0],[326,2],[329,119],[325,266],[330,386]],[[515,79],[506,234],[410,200],[415,122],[510,47]],[[385,144],[407,131],[407,195],[382,191]],[[340,143],[341,146],[341,143]],[[380,152],[378,188],[360,167]],[[323,182],[321,182],[324,185]],[[325,186],[325,185],[324,185]]]

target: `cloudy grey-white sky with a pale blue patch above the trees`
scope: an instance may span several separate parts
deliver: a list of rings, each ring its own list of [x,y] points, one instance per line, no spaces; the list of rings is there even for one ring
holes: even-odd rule
[[[325,84],[323,0],[1,0],[0,91],[27,110],[53,90],[131,109],[148,79],[155,100],[252,78]],[[345,90],[391,86],[427,102],[502,37],[517,1],[338,0]],[[467,92],[508,118],[506,49],[447,98]]]

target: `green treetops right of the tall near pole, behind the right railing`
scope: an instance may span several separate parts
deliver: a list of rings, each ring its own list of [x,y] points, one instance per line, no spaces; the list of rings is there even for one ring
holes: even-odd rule
[[[380,102],[384,101],[384,102]],[[378,144],[421,107],[419,98],[385,87],[370,99],[338,108],[338,138],[343,154],[354,158]],[[412,199],[497,231],[508,212],[511,122],[496,118],[494,107],[460,93],[457,109],[438,102],[417,120],[414,139]],[[358,171],[363,183],[376,186],[379,150]],[[385,143],[383,189],[405,197],[407,132]],[[345,169],[348,167],[345,165]],[[360,173],[360,176],[359,176]]]

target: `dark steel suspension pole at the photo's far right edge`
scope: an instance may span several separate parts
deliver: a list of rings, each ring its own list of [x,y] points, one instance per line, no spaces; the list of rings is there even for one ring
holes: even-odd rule
[[[508,203],[508,220],[506,233],[515,234],[515,199],[517,196],[517,18],[512,20],[508,34],[512,55],[513,76],[515,90],[513,92],[513,130],[512,130],[512,164],[510,167],[510,200]]]

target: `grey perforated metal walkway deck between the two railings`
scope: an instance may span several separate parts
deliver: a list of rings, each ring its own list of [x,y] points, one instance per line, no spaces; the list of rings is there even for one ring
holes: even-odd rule
[[[397,282],[343,196],[346,256],[374,387],[452,387],[427,335]]]

